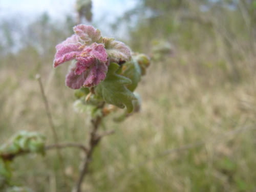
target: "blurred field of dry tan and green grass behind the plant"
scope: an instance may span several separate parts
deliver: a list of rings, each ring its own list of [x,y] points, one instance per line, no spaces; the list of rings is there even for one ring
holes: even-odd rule
[[[137,90],[143,100],[141,112],[120,124],[112,121],[113,116],[106,119],[106,127],[116,133],[99,145],[84,189],[255,190],[256,175],[251,172],[255,159],[253,86],[246,82],[220,82],[210,74],[200,76],[188,65],[181,65],[179,58],[152,64]],[[48,135],[47,143],[52,142],[38,82],[29,78],[29,69],[28,66],[23,73],[8,67],[1,70],[3,142],[18,130],[40,131]],[[60,140],[86,143],[90,124],[85,114],[72,110],[72,90],[63,83],[66,69],[57,69],[48,81],[51,71],[51,63],[46,63],[37,72],[42,73],[49,89],[47,96]],[[209,73],[207,69],[205,73]],[[205,78],[207,75],[210,78]],[[246,131],[225,135],[237,129]],[[205,143],[161,156],[166,150],[198,141]],[[80,152],[63,152],[72,186],[78,175]],[[18,157],[13,164],[14,181],[36,191],[61,188],[54,151],[44,158]]]

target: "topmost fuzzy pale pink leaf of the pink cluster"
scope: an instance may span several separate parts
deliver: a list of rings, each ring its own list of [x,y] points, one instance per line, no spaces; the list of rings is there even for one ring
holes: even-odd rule
[[[74,28],[74,32],[78,35],[87,45],[100,40],[100,30],[95,29],[93,26],[77,25]]]

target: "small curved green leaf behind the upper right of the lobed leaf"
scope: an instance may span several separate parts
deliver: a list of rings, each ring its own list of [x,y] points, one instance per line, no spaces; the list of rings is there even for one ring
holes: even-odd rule
[[[122,65],[122,71],[124,77],[132,80],[132,84],[129,84],[126,87],[133,92],[136,89],[138,82],[140,82],[141,70],[139,64],[134,60],[125,62]]]

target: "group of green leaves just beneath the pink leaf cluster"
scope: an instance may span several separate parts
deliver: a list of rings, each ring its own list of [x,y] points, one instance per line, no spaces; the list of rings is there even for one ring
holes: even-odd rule
[[[126,61],[121,65],[111,63],[106,78],[98,86],[92,89],[81,88],[75,90],[77,100],[73,104],[74,110],[78,113],[87,112],[90,117],[94,118],[105,114],[98,108],[102,105],[102,102],[115,105],[121,109],[126,106],[126,110],[122,115],[116,117],[115,121],[124,120],[127,117],[126,113],[138,112],[141,99],[137,93],[133,92],[149,65],[150,60],[144,54],[134,54],[131,61]]]

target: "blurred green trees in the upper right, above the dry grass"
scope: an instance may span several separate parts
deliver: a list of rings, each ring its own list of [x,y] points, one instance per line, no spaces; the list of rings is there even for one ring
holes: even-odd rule
[[[224,60],[227,75],[241,79],[239,60],[255,53],[255,0],[138,0],[138,6],[124,13],[113,29],[129,24],[130,46],[136,51],[152,52],[152,40],[164,39],[178,49],[198,55],[195,66],[202,69],[202,52]],[[255,5],[254,5],[255,4]],[[253,7],[254,6],[254,7]],[[250,39],[250,40],[249,40]],[[176,46],[178,45],[178,46]],[[208,47],[206,47],[208,45]],[[250,47],[250,48],[249,48]],[[244,53],[241,51],[244,51]],[[253,51],[254,50],[254,51]],[[255,66],[250,59],[250,66]],[[255,71],[250,67],[248,71]]]

